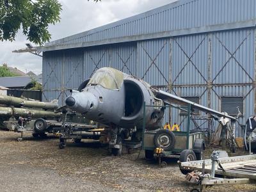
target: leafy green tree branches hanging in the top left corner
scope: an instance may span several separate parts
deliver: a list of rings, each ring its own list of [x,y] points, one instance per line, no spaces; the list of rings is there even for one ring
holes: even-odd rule
[[[15,40],[17,31],[38,45],[51,39],[49,24],[60,22],[57,0],[0,0],[0,40]]]

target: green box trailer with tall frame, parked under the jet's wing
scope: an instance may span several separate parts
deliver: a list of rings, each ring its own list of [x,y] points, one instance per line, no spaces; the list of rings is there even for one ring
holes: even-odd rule
[[[169,129],[148,130],[145,127],[145,116],[143,117],[143,136],[142,147],[145,150],[146,159],[157,157],[159,166],[166,166],[162,161],[163,157],[176,157],[180,162],[196,161],[202,159],[205,149],[204,132],[190,131],[191,105],[188,106],[146,106],[144,104],[144,113],[146,108],[174,108],[183,111],[182,115],[186,118],[186,131],[170,131]],[[184,120],[182,121],[184,122]]]

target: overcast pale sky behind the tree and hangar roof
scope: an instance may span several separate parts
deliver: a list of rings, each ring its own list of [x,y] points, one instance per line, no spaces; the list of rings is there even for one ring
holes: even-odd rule
[[[51,40],[81,33],[116,20],[147,12],[164,4],[177,0],[60,0],[62,6],[61,21],[50,26]],[[19,33],[15,42],[0,42],[0,65],[7,63],[23,72],[32,70],[35,74],[42,72],[42,58],[31,53],[12,53],[15,49],[26,47],[26,36]]]

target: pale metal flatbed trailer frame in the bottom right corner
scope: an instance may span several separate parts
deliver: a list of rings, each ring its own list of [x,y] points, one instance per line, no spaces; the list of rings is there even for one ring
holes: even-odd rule
[[[182,168],[188,170],[201,170],[202,172],[191,172],[186,175],[186,180],[192,183],[199,184],[200,191],[204,191],[207,186],[220,185],[220,184],[250,184],[256,182],[255,174],[255,161],[256,156],[237,156],[237,157],[223,157],[221,151],[214,151],[211,155],[211,174],[205,174],[205,163],[209,167],[210,159],[203,161],[190,161],[181,163]],[[221,163],[232,163],[231,168],[223,168]],[[243,166],[244,163],[244,166]],[[253,163],[253,164],[250,164]],[[202,165],[202,168],[196,167],[195,165]],[[217,164],[217,168],[216,168]],[[236,167],[237,164],[237,167]],[[235,177],[234,179],[223,179],[215,177],[215,173],[225,176]],[[198,191],[195,189],[194,191]]]

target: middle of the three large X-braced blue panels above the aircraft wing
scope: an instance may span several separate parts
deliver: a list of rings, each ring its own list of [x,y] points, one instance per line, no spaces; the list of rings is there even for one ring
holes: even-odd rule
[[[172,84],[207,83],[207,34],[180,36],[172,42]]]

